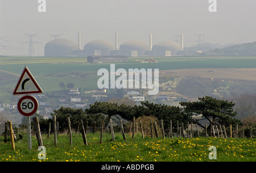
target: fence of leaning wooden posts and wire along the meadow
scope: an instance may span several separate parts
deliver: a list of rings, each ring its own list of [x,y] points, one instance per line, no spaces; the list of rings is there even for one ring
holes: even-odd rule
[[[168,129],[164,129],[163,120],[156,123],[156,121],[150,121],[150,124],[142,124],[142,121],[136,122],[135,117],[133,121],[126,125],[126,129],[123,129],[122,121],[119,125],[113,127],[112,119],[110,119],[109,126],[105,127],[104,121],[101,125],[94,123],[93,126],[88,126],[88,122],[83,123],[82,120],[77,124],[72,124],[68,119],[67,123],[59,123],[56,121],[56,117],[53,117],[53,123],[39,123],[38,117],[33,118],[31,124],[11,124],[6,122],[0,124],[0,129],[4,128],[4,132],[0,135],[0,146],[3,144],[9,144],[12,149],[15,150],[15,143],[19,143],[20,149],[28,149],[31,142],[32,148],[37,149],[38,146],[56,145],[58,147],[67,145],[93,145],[103,142],[103,138],[107,141],[114,141],[115,133],[121,133],[123,140],[126,140],[126,136],[131,138],[135,137],[135,134],[139,134],[142,138],[149,137],[220,137],[220,138],[253,138],[253,128],[251,126],[238,126],[229,125],[208,125],[208,128],[199,129],[197,124],[188,123],[184,128],[183,123],[177,122],[175,128],[170,121]],[[30,129],[31,125],[31,136]],[[207,126],[207,124],[205,124]],[[100,132],[100,139],[98,139]],[[104,134],[105,133],[105,134]],[[82,134],[82,135],[81,135]],[[103,136],[104,134],[104,136]],[[108,134],[108,135],[106,135]],[[89,136],[90,140],[87,140]],[[37,142],[37,144],[36,144]],[[22,144],[22,145],[20,145]]]

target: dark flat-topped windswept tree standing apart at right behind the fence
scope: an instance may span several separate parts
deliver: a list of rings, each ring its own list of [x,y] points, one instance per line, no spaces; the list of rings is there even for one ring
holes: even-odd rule
[[[205,96],[198,99],[199,101],[197,102],[180,102],[180,105],[184,107],[184,112],[192,113],[196,116],[201,115],[211,124],[240,124],[240,121],[234,118],[237,112],[234,112],[233,110],[233,102],[218,100],[211,96]],[[200,124],[200,121],[204,119],[193,119],[193,123],[205,128],[204,124]]]

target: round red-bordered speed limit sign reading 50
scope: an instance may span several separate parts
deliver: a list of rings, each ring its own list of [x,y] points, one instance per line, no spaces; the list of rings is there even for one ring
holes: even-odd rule
[[[19,99],[17,105],[18,111],[24,116],[31,116],[38,110],[38,100],[34,96],[25,95]]]

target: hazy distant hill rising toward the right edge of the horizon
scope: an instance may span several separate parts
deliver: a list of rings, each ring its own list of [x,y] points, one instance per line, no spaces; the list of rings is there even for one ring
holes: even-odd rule
[[[197,56],[256,56],[256,41],[226,48],[216,48],[209,52],[197,53]]]

